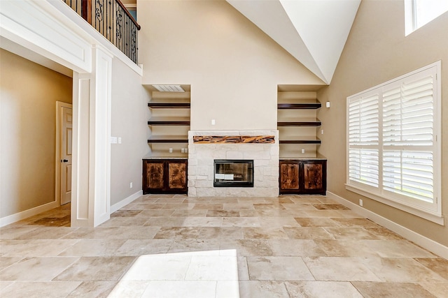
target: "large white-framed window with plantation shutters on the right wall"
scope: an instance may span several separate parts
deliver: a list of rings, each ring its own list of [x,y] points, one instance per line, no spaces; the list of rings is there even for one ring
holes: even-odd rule
[[[438,61],[347,98],[347,189],[442,222]]]

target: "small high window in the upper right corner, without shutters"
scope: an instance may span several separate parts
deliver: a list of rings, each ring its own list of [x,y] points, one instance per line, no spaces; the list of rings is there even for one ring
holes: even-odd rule
[[[409,35],[447,11],[447,0],[405,0],[405,35]]]

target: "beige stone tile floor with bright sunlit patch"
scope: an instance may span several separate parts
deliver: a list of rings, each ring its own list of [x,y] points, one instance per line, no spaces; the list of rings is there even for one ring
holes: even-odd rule
[[[0,228],[0,297],[448,297],[448,260],[325,196],[144,195]]]

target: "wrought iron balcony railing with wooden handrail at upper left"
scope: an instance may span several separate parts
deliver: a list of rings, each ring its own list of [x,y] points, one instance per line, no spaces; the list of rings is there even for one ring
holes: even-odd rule
[[[137,64],[140,25],[120,0],[62,0]]]

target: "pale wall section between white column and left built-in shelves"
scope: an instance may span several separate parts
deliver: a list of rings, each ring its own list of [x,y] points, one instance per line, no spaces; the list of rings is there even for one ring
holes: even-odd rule
[[[122,143],[111,144],[111,205],[141,191],[141,159],[149,151],[148,101],[141,76],[113,59],[111,135]]]

